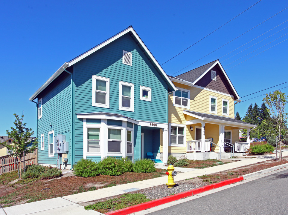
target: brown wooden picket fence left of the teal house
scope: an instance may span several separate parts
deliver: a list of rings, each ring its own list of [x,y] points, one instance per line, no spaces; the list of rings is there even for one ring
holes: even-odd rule
[[[20,160],[18,157],[18,162],[20,164],[20,167],[24,167],[23,157]],[[30,164],[38,164],[38,148],[35,149],[35,151],[28,153],[25,155],[25,165]],[[0,175],[7,172],[16,171],[17,168],[17,162],[16,157],[13,155],[6,155],[0,157]]]

